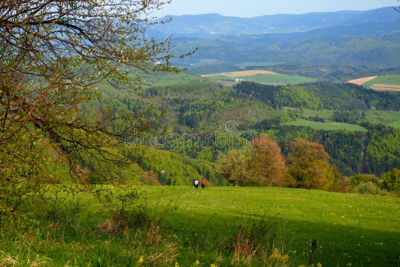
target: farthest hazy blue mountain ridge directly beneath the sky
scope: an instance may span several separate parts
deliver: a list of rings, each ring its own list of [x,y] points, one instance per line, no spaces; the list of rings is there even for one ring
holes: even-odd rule
[[[394,22],[399,13],[393,7],[366,11],[344,10],[336,12],[312,12],[305,14],[276,14],[250,18],[222,16],[216,13],[200,15],[164,16],[172,21],[151,27],[158,36],[210,37],[221,35],[306,32],[313,29],[359,24]]]

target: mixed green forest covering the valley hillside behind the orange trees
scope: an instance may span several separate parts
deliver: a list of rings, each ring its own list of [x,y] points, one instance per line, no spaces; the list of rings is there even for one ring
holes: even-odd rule
[[[290,147],[301,139],[321,145],[327,153],[325,161],[340,175],[380,177],[400,167],[399,130],[388,126],[387,121],[369,120],[369,114],[376,110],[398,111],[397,92],[374,91],[350,83],[267,85],[204,81],[149,87],[144,94],[153,101],[162,99],[169,111],[165,120],[173,121],[169,127],[165,125],[167,135],[158,136],[157,142],[152,140],[151,144],[181,158],[218,165],[232,153],[232,148],[239,153],[242,147],[252,147],[254,138],[262,133],[276,142],[281,152],[275,154],[286,157],[287,164],[293,154]],[[306,123],[290,124],[296,119],[345,123],[348,127],[315,129]],[[248,151],[244,150],[246,157]],[[170,172],[173,183],[176,177],[173,169]],[[215,184],[229,180],[221,179],[220,172],[199,172]]]

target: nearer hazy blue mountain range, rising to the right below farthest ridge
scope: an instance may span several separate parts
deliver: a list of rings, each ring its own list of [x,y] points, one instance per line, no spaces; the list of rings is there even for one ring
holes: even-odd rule
[[[239,65],[251,61],[391,67],[400,62],[400,21],[340,25],[308,32],[176,37],[173,42],[179,53],[198,48],[186,58],[187,64],[202,64],[206,59]]]

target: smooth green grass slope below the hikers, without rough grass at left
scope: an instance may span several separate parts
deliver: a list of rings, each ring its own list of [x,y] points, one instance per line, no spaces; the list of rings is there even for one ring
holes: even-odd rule
[[[307,264],[313,239],[313,263],[322,266],[395,266],[400,259],[399,198],[274,187],[146,190],[150,205],[172,199],[176,210],[168,213],[166,228],[182,241],[177,261],[184,266],[196,259],[228,266],[221,251],[236,227],[264,215],[277,226],[275,246],[289,255],[290,266]]]

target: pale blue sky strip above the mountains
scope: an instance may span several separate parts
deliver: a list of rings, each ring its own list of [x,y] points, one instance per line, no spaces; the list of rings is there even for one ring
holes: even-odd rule
[[[367,10],[398,5],[397,0],[172,0],[155,15],[218,13],[253,17],[270,14],[301,14],[337,10]]]

